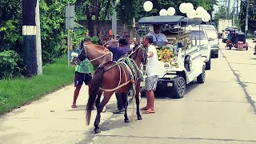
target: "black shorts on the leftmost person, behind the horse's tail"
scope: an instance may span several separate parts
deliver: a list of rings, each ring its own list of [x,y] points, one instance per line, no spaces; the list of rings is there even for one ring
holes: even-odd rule
[[[74,87],[75,86],[82,86],[82,83],[85,82],[86,85],[90,84],[90,81],[92,79],[91,74],[83,74],[83,73],[78,73],[77,71],[75,72],[74,76]]]

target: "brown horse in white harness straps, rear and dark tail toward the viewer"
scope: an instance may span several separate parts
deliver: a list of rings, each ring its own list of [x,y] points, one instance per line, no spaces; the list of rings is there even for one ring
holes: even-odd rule
[[[96,134],[100,133],[99,130],[99,123],[100,123],[100,114],[103,109],[103,107],[106,105],[107,102],[109,102],[110,97],[114,92],[117,93],[128,93],[133,86],[135,89],[135,98],[136,98],[136,107],[137,107],[137,117],[138,120],[142,120],[142,116],[139,111],[139,90],[140,90],[140,83],[141,79],[138,78],[138,75],[140,75],[140,65],[141,63],[146,63],[146,53],[147,50],[144,46],[136,45],[134,46],[134,50],[131,52],[131,54],[128,57],[130,61],[134,62],[134,65],[130,66],[136,66],[136,70],[134,70],[135,77],[136,78],[131,78],[130,76],[130,69],[126,64],[123,64],[123,61],[118,61],[118,62],[106,62],[103,65],[99,66],[98,69],[94,73],[94,77],[91,82],[91,87],[90,87],[90,97],[87,102],[86,106],[86,123],[87,125],[90,125],[90,115],[91,111],[94,109],[94,102],[96,103],[97,107],[97,116],[95,118],[94,122],[94,132]],[[124,59],[125,59],[124,58]],[[122,63],[123,62],[123,63]],[[120,64],[122,63],[122,64]],[[104,91],[104,98],[102,102],[100,102],[101,95],[98,95],[98,91]],[[127,117],[127,106],[128,102],[126,100],[126,106],[125,106],[125,122],[130,122],[129,118]]]

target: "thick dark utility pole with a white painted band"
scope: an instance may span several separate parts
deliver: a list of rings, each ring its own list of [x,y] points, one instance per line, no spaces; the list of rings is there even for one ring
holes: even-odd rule
[[[38,74],[35,25],[36,4],[37,0],[22,0],[22,58],[26,66],[24,70],[26,77]]]

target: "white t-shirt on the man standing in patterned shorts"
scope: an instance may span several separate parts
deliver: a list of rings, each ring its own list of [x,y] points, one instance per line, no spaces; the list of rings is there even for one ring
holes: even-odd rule
[[[153,56],[147,58],[146,74],[148,77],[159,75],[158,52],[152,45],[148,47],[148,51],[153,52]]]

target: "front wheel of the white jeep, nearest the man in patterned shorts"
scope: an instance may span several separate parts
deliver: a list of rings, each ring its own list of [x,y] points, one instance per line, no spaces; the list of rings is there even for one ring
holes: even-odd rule
[[[186,92],[186,81],[182,77],[174,78],[174,98],[183,98]]]

